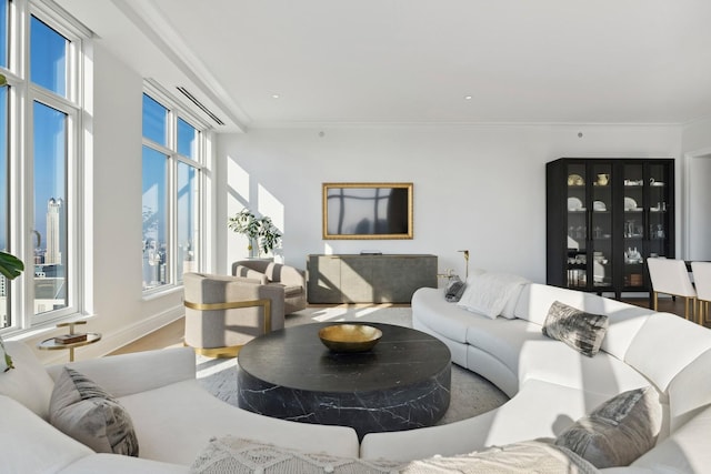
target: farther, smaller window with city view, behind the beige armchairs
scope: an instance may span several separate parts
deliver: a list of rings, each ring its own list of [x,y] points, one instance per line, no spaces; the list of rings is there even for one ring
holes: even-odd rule
[[[163,93],[143,94],[144,291],[180,284],[184,272],[199,266],[204,147],[193,123]]]

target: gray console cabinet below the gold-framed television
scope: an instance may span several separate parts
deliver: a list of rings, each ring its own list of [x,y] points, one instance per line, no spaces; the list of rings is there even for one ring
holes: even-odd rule
[[[309,303],[410,303],[419,288],[437,288],[437,255],[310,254]]]

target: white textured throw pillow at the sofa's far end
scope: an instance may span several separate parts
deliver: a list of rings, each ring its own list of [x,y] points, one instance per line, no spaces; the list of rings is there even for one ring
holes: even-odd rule
[[[459,306],[472,313],[495,319],[504,313],[505,317],[513,317],[515,301],[523,284],[528,283],[523,276],[507,273],[482,273],[467,279],[467,290],[457,303]],[[508,303],[515,300],[508,307]]]

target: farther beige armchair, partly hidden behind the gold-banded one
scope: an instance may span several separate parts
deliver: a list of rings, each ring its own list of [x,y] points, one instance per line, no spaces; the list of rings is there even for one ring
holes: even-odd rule
[[[268,260],[240,260],[232,263],[232,275],[284,290],[284,314],[307,307],[304,272]]]

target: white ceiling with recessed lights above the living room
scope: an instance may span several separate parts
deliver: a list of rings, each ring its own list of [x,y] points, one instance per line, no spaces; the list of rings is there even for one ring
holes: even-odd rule
[[[709,0],[58,2],[218,130],[711,115]]]

